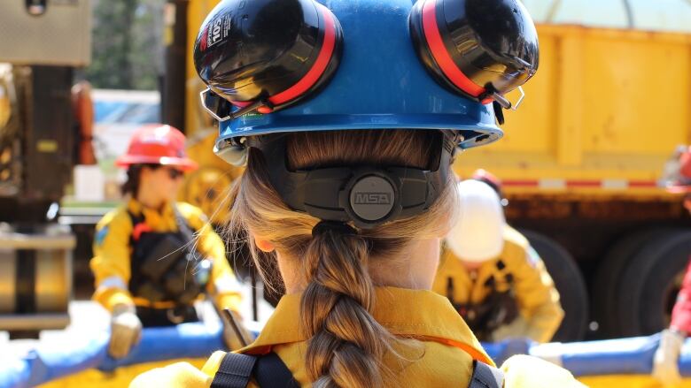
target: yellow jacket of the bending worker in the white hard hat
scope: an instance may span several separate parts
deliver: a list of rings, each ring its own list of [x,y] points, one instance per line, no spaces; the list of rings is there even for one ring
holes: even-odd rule
[[[497,265],[500,260],[504,264],[501,270],[501,265]],[[476,271],[467,270],[460,259],[449,249],[445,249],[432,290],[449,296],[448,284],[449,279],[452,279],[454,289],[450,296],[454,303],[479,303],[490,292],[490,288],[485,286],[487,279],[494,278],[497,291],[509,288],[502,281],[507,274],[511,274],[513,278],[518,310],[527,323],[526,327],[518,329],[521,332],[512,332],[512,336],[527,337],[539,342],[549,341],[563,319],[559,293],[540,256],[520,232],[509,226],[505,228],[501,255],[483,262]]]

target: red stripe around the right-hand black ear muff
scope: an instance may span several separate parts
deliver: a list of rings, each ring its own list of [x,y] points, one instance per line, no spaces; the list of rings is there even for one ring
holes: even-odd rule
[[[439,69],[444,72],[446,78],[450,80],[456,87],[459,87],[464,92],[477,97],[485,93],[485,87],[478,86],[475,82],[466,77],[465,74],[454,64],[454,60],[446,51],[446,46],[441,40],[439,34],[439,27],[437,24],[437,0],[427,0],[423,4],[423,32],[427,45],[430,48],[431,55],[439,65]],[[487,103],[491,99],[485,100]],[[485,103],[483,101],[482,103]]]

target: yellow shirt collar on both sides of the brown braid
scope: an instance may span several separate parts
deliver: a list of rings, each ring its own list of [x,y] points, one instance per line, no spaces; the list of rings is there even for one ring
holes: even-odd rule
[[[462,348],[474,359],[493,365],[451,303],[427,290],[377,287],[373,316],[392,334]],[[266,354],[271,346],[307,340],[298,329],[301,293],[284,295],[259,337],[240,351]]]

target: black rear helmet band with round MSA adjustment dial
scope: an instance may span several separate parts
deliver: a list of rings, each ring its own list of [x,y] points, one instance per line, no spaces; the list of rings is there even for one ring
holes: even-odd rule
[[[249,147],[260,150],[272,186],[291,209],[369,229],[429,209],[448,179],[456,143],[439,133],[431,170],[363,164],[291,171],[285,134],[253,137]]]

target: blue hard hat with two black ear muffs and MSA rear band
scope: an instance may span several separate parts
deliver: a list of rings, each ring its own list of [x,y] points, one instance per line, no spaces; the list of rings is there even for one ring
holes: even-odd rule
[[[289,208],[372,228],[430,209],[454,146],[501,138],[503,95],[537,70],[538,43],[518,0],[223,0],[194,62],[202,103],[221,122],[218,156],[243,164],[255,148]],[[286,165],[284,136],[259,136],[363,129],[452,135],[433,133],[429,170],[309,171]]]

